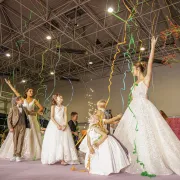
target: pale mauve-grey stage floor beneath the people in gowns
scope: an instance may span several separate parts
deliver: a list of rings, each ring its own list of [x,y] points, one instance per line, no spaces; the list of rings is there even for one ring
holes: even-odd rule
[[[83,170],[83,165],[75,166]],[[148,177],[131,175],[126,173],[112,174],[110,176],[98,176],[87,172],[71,171],[71,166],[42,165],[40,161],[24,161],[20,163],[0,160],[0,180],[148,180]],[[180,176],[157,176],[155,180],[180,180]]]

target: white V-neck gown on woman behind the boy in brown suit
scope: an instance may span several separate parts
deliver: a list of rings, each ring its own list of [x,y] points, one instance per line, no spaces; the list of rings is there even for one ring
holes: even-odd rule
[[[35,106],[34,101],[35,99],[28,103],[25,99],[23,106],[26,107],[29,111],[33,111]],[[40,125],[38,123],[37,116],[29,115],[28,118],[30,122],[30,129],[26,128],[22,149],[22,158],[27,160],[37,160],[41,157],[42,138],[40,133]],[[9,132],[6,140],[1,146],[0,158],[11,159],[13,157],[13,151],[13,133]]]

